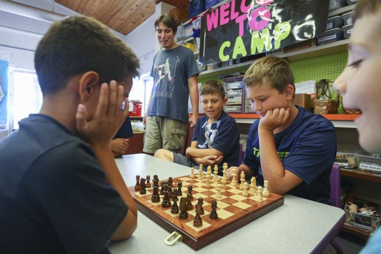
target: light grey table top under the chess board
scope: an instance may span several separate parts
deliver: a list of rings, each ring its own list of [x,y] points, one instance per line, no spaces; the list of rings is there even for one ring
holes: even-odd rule
[[[185,166],[167,162],[146,154],[125,155],[116,159],[127,187],[134,186],[136,175],[145,177],[180,177],[190,174]],[[254,220],[241,229],[210,244],[197,253],[314,253],[318,246],[326,246],[337,234],[345,219],[344,210],[292,195],[284,195],[284,204]],[[333,229],[333,230],[332,230]],[[337,231],[337,232],[332,232]],[[184,243],[164,244],[170,234],[143,213],[138,212],[137,229],[127,240],[109,246],[113,254],[127,253],[195,253]],[[315,249],[315,250],[314,250]]]

